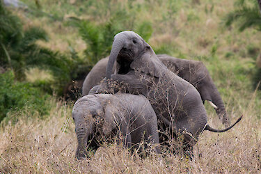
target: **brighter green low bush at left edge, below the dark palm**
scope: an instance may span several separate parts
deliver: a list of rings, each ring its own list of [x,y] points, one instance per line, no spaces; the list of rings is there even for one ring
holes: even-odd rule
[[[49,111],[47,99],[39,88],[32,84],[15,81],[13,71],[0,74],[0,122],[9,111],[22,111],[25,107],[31,112],[38,112],[41,117]]]

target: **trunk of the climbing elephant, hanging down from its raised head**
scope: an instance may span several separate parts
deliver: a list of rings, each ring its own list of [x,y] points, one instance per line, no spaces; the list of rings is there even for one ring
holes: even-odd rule
[[[120,50],[124,45],[125,40],[126,40],[126,36],[123,34],[116,35],[116,37],[113,40],[111,54],[109,56],[109,61],[106,67],[106,79],[111,79],[113,65],[116,61],[116,58],[118,57],[118,54],[120,53]]]

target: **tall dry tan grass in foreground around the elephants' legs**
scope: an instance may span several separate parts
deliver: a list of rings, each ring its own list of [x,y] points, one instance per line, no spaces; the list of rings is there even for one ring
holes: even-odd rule
[[[90,159],[78,161],[72,107],[53,100],[48,119],[25,114],[16,125],[1,128],[0,173],[260,173],[261,122],[255,119],[255,93],[252,99],[242,109],[242,121],[230,131],[203,132],[192,161],[171,153],[142,159],[117,145],[102,147]],[[240,113],[229,113],[232,121]],[[209,113],[209,124],[220,127],[216,113]]]

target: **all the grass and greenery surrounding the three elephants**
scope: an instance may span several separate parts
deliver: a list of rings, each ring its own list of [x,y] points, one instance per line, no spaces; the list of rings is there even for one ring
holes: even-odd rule
[[[260,173],[256,0],[22,1],[28,9],[4,8],[0,0],[0,173]],[[204,132],[193,161],[141,159],[116,145],[75,161],[72,105],[61,100],[63,89],[109,56],[113,36],[125,30],[157,54],[202,61],[228,116],[244,115],[242,122],[227,133]],[[209,124],[221,128],[205,107]]]

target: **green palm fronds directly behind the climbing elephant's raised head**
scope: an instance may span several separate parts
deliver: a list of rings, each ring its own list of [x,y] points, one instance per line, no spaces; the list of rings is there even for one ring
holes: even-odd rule
[[[86,64],[90,65],[90,69],[99,61],[109,55],[111,52],[111,42],[114,35],[120,31],[125,31],[124,27],[120,26],[120,14],[116,14],[115,17],[109,19],[104,24],[95,24],[87,20],[81,20],[77,18],[71,18],[72,26],[76,26],[81,39],[86,42],[86,49],[84,49],[84,58],[88,60]],[[134,30],[134,29],[132,29]],[[152,26],[148,22],[141,23],[136,27],[137,33],[143,35],[145,40],[152,35]]]

